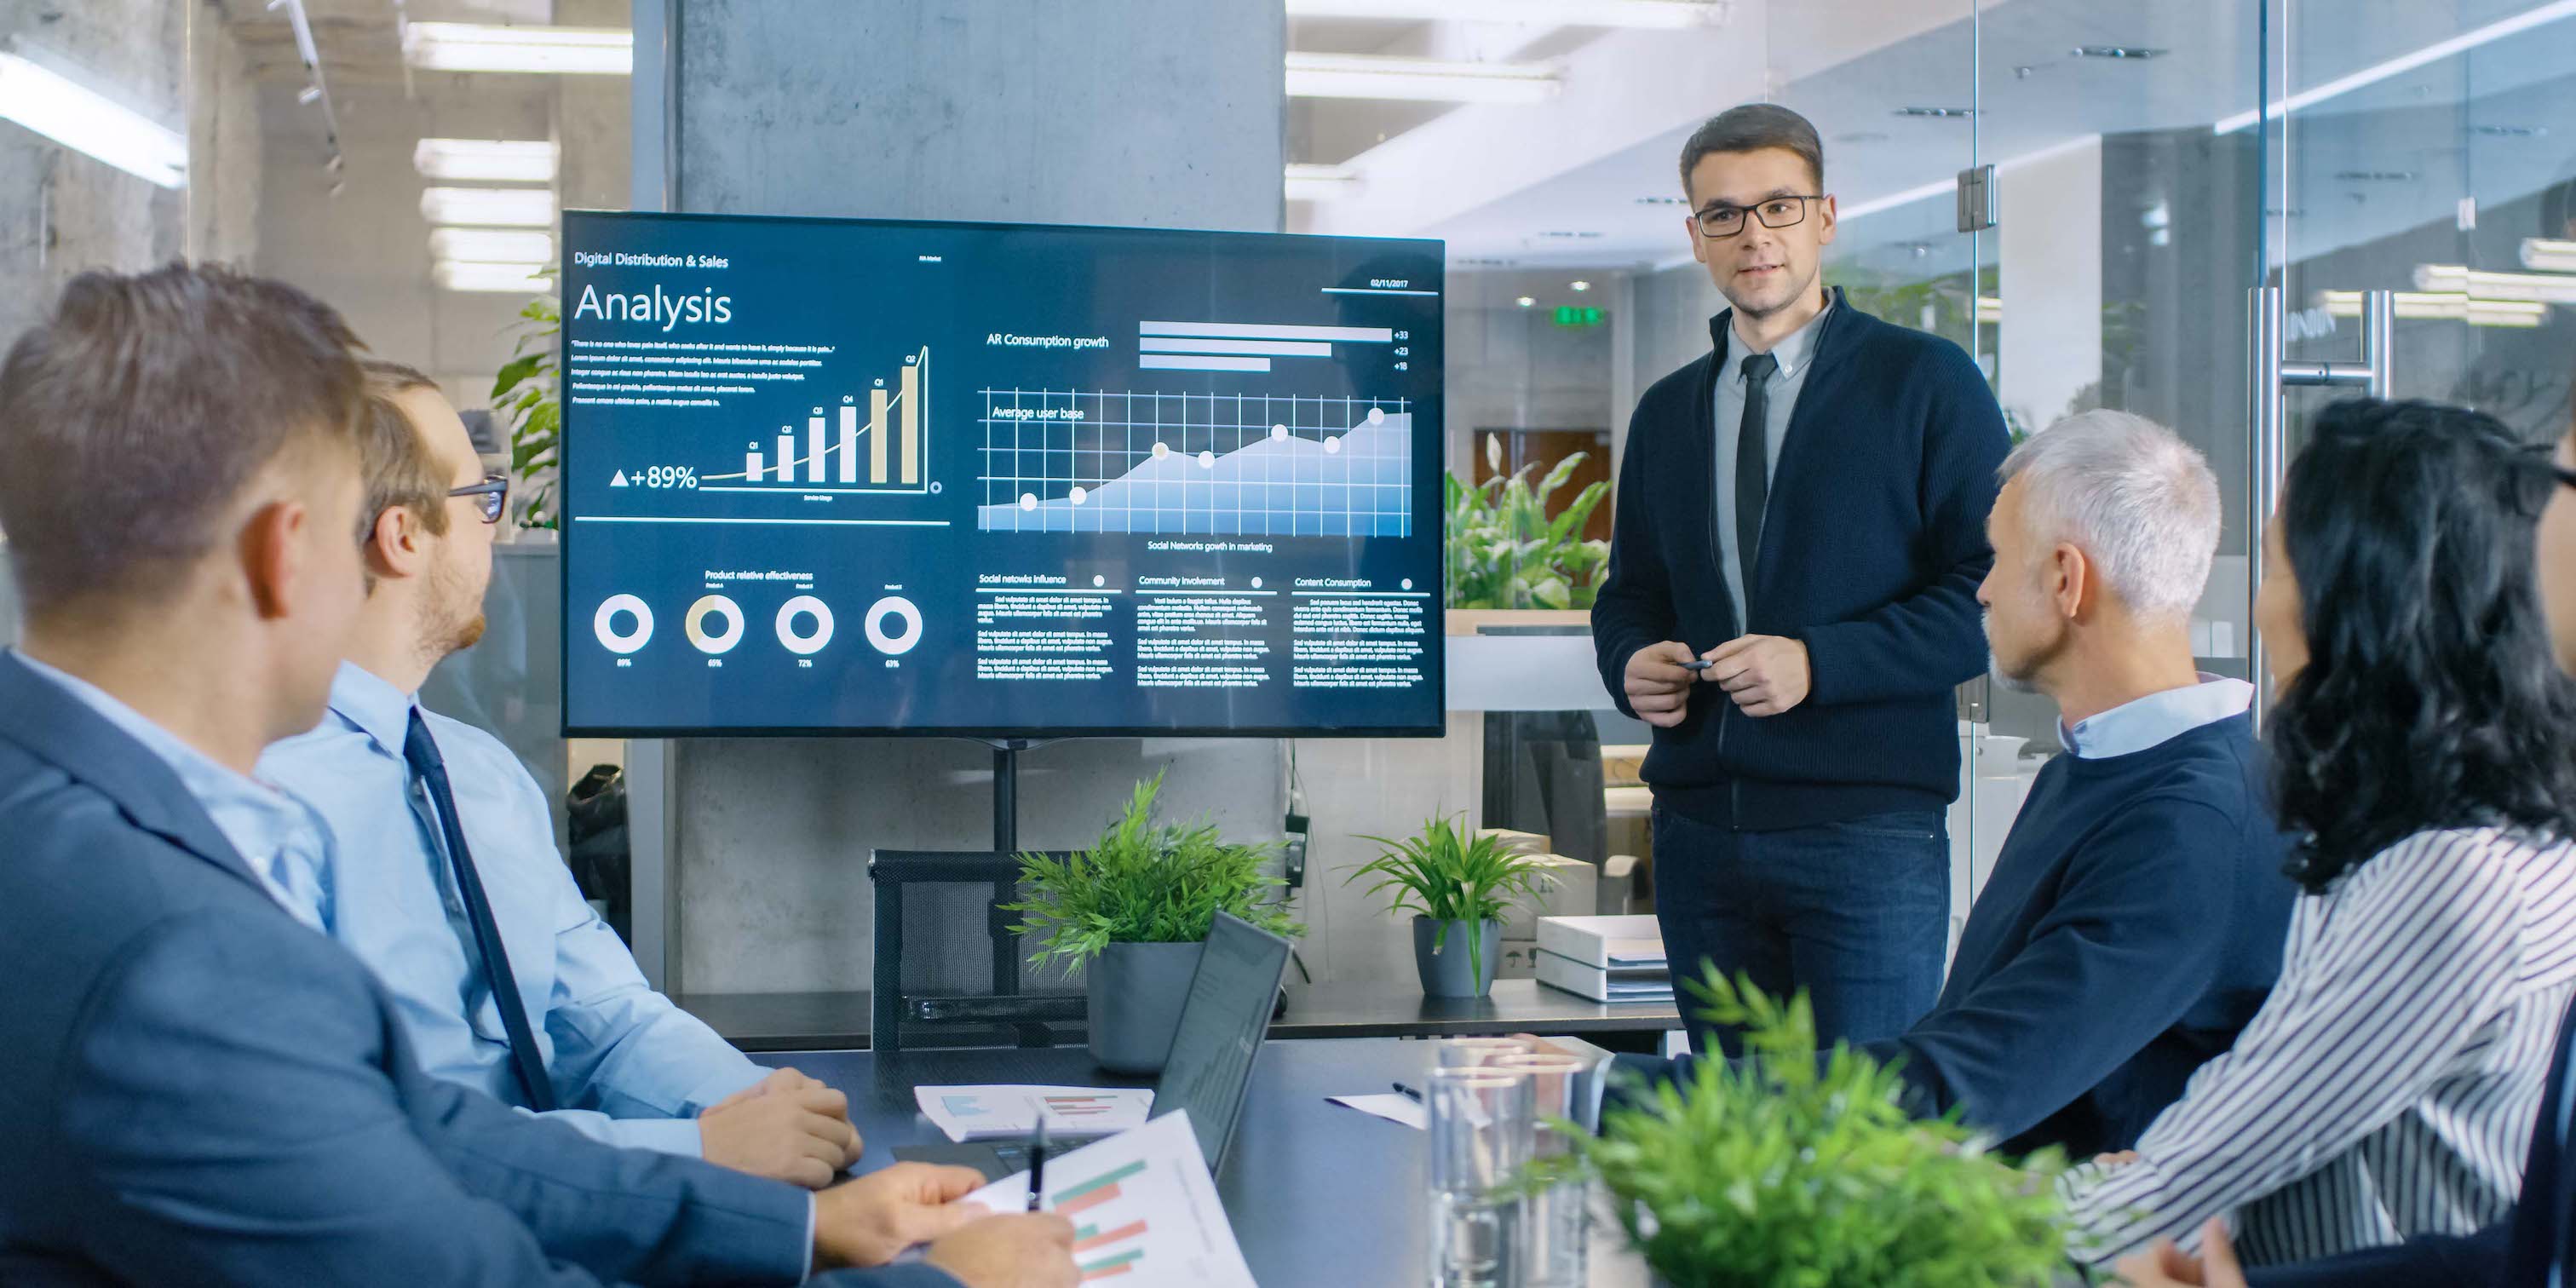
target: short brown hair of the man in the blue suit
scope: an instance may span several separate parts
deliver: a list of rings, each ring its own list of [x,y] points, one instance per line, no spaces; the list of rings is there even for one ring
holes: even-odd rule
[[[0,528],[26,608],[167,590],[270,461],[350,443],[353,348],[281,281],[72,278],[0,363]]]

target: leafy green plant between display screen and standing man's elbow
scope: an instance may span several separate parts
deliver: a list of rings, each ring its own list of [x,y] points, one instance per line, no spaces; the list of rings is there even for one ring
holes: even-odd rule
[[[1468,487],[1448,474],[1443,487],[1448,608],[1592,608],[1610,544],[1584,541],[1582,531],[1610,484],[1584,487],[1548,518],[1548,500],[1584,464],[1582,451],[1556,461],[1535,484],[1530,474],[1538,464],[1502,474],[1499,435],[1484,438],[1484,461],[1492,479]]]

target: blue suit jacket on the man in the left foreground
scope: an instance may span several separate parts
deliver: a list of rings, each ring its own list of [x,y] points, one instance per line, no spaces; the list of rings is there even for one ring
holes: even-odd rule
[[[804,1273],[801,1190],[422,1074],[384,987],[260,889],[178,775],[5,652],[0,981],[5,1283]]]

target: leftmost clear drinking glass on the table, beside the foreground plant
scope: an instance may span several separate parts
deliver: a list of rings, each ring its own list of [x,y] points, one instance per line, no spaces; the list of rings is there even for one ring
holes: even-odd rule
[[[1430,1280],[1437,1288],[1522,1288],[1528,1200],[1512,1188],[1530,1162],[1530,1074],[1432,1069]]]

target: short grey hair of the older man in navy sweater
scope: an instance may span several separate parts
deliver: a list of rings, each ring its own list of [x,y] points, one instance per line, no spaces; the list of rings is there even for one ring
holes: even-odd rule
[[[2130,412],[2076,412],[2004,456],[2027,477],[2035,541],[2071,541],[2141,618],[2179,621],[2200,605],[2218,554],[2218,477],[2174,430]]]

